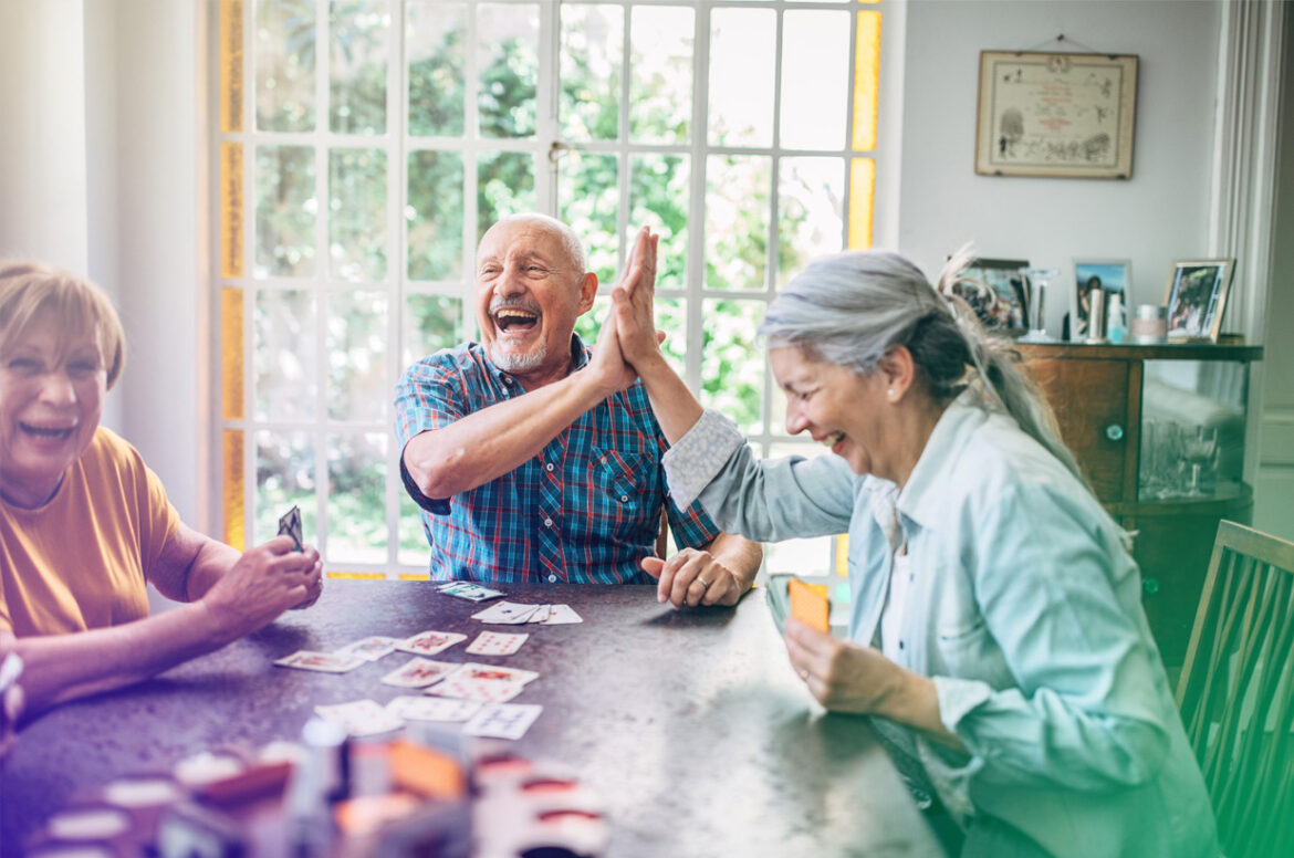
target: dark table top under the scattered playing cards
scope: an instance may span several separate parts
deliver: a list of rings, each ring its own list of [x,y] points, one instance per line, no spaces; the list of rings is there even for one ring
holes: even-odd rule
[[[0,845],[122,775],[295,739],[316,704],[417,694],[379,682],[406,654],[345,674],[270,663],[437,629],[468,634],[437,660],[540,672],[514,703],[543,712],[515,748],[569,765],[606,802],[612,857],[942,854],[868,722],[824,713],[791,670],[762,590],[736,608],[683,611],[657,604],[651,586],[510,588],[506,598],[567,603],[584,622],[485,626],[470,619],[480,604],[423,581],[330,580],[308,611],[60,707],[22,731],[0,770]],[[484,629],[531,637],[511,656],[465,654]]]

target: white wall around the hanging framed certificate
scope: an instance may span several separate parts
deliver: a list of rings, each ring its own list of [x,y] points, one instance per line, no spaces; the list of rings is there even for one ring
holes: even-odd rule
[[[1058,34],[1140,57],[1132,177],[977,176],[980,52],[1082,50],[1057,45]],[[1052,335],[1075,256],[1131,259],[1130,303],[1159,303],[1172,260],[1207,245],[1218,36],[1211,1],[912,0],[898,250],[932,278],[967,241],[983,256],[1060,268]]]

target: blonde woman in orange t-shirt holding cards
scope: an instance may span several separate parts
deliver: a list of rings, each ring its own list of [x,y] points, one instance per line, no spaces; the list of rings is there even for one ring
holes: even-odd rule
[[[185,525],[138,452],[98,424],[124,362],[93,283],[0,260],[0,650],[27,713],[148,678],[318,598],[312,547],[246,554]],[[146,584],[188,604],[149,616]]]

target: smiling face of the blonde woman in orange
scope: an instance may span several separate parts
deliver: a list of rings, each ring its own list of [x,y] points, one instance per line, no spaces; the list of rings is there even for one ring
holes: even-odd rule
[[[107,391],[98,335],[41,309],[0,356],[0,492],[36,507],[89,446]]]

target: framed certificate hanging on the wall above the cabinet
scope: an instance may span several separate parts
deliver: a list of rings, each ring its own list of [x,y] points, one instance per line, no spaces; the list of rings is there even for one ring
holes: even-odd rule
[[[980,52],[974,171],[1128,179],[1136,54]]]

